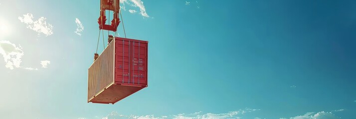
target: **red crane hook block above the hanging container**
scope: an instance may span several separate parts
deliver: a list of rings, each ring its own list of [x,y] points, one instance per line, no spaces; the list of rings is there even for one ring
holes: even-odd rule
[[[114,32],[117,30],[120,23],[119,9],[120,9],[120,0],[100,0],[100,17],[98,18],[100,30],[103,29],[103,30],[109,30]],[[114,11],[114,15],[113,15],[114,17],[110,25],[105,24],[107,20],[105,15],[106,10]]]

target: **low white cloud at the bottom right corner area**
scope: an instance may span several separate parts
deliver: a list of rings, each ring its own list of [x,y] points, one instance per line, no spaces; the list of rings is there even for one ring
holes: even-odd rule
[[[338,117],[336,117],[334,114],[332,114],[331,112],[319,112],[315,115],[313,115],[314,113],[307,113],[303,116],[296,116],[293,118],[280,118],[280,119],[340,119]]]

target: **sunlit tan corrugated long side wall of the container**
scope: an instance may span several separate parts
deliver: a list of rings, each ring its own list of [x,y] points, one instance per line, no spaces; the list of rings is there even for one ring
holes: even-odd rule
[[[88,101],[114,82],[115,40],[88,69]]]

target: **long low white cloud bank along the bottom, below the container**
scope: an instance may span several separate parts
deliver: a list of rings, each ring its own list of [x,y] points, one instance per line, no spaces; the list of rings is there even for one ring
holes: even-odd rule
[[[257,109],[244,109],[244,110],[238,110],[238,111],[233,111],[233,112],[228,112],[223,114],[212,114],[212,113],[202,114],[202,112],[197,112],[193,114],[178,114],[178,115],[161,116],[161,117],[155,117],[154,115],[126,116],[126,115],[120,115],[118,114],[118,112],[114,111],[110,113],[108,116],[103,117],[102,119],[240,119],[241,115],[245,115],[246,113],[250,113],[253,111],[257,111]]]

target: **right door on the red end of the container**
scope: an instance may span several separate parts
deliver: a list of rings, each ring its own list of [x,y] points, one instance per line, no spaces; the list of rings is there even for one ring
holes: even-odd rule
[[[132,42],[131,83],[147,84],[147,44]]]

